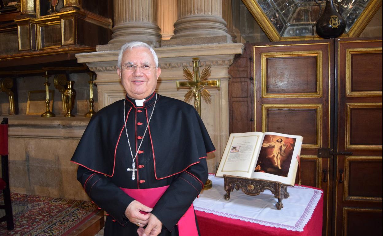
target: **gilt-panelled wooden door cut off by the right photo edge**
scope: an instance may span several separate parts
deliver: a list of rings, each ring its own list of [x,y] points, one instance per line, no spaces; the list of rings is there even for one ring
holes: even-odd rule
[[[334,235],[382,235],[382,41],[336,40]],[[338,61],[339,60],[339,61]]]

